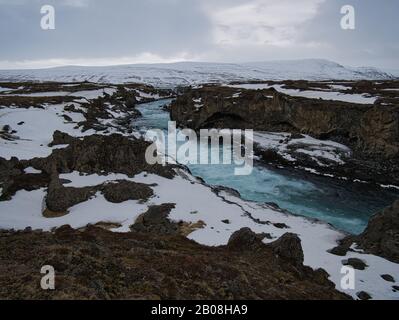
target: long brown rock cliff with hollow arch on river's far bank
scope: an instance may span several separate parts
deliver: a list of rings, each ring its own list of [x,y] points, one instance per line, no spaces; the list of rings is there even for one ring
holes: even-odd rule
[[[367,105],[292,97],[273,88],[244,90],[225,86],[189,89],[170,107],[171,118],[181,127],[239,128],[304,133],[349,146],[352,158],[333,165],[326,174],[338,173],[380,184],[399,184],[399,105]],[[284,159],[257,150],[265,161]],[[317,167],[305,157],[298,165]],[[286,161],[285,161],[286,162]]]

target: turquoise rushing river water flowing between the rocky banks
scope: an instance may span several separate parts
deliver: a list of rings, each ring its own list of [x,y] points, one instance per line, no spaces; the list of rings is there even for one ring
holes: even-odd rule
[[[140,130],[166,130],[169,113],[162,106],[170,100],[141,104],[142,117],[135,121]],[[201,145],[201,148],[210,148]],[[370,216],[399,197],[399,192],[318,177],[290,169],[255,166],[251,175],[234,175],[234,165],[188,165],[195,176],[208,184],[236,189],[244,199],[274,202],[295,214],[331,223],[337,229],[360,233]]]

